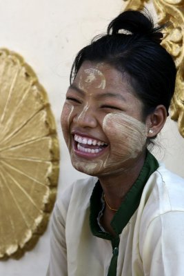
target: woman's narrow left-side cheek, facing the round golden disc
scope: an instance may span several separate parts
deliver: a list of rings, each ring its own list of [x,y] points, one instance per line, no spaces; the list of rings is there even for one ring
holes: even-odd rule
[[[69,129],[70,129],[70,117],[72,115],[72,111],[74,109],[74,106],[64,104],[63,110],[61,112],[61,128],[63,131],[63,137],[65,139],[66,144],[69,143]]]

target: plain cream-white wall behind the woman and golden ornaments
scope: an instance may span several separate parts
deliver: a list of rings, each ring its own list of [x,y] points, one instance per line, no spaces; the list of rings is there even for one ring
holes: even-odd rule
[[[70,165],[60,130],[60,113],[74,55],[123,8],[122,0],[0,0],[0,47],[21,54],[48,92],[61,141],[61,188],[85,177]],[[184,139],[168,121],[162,139],[167,166],[183,175]],[[163,155],[163,154],[161,154]],[[160,155],[160,156],[161,156]],[[0,276],[43,276],[49,259],[49,228],[34,250],[17,260],[0,262]]]

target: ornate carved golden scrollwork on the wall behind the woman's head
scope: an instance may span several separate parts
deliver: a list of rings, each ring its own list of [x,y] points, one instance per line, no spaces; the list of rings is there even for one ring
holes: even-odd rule
[[[123,0],[123,9],[143,9],[150,1]],[[171,118],[178,121],[178,129],[184,137],[184,0],[152,0],[158,14],[158,22],[170,22],[165,28],[163,47],[174,57],[177,68],[176,89],[170,106]]]

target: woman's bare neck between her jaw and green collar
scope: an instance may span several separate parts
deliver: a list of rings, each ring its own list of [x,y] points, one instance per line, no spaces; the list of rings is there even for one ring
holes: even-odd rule
[[[125,198],[125,195],[133,186],[137,177],[139,177],[144,161],[145,152],[139,159],[134,160],[134,164],[131,164],[131,168],[116,174],[99,177],[105,199],[111,208],[118,209],[121,206],[121,202]]]

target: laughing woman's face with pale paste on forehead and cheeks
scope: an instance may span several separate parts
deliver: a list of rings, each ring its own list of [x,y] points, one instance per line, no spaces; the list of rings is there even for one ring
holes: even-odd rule
[[[72,165],[88,175],[134,166],[145,149],[142,104],[122,73],[85,61],[66,93],[61,126]]]

